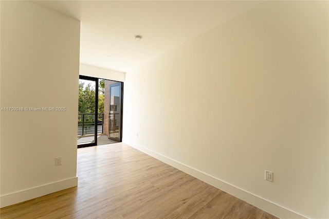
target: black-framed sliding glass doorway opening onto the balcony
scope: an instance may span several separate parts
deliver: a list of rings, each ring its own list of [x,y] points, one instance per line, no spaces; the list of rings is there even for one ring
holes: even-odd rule
[[[78,148],[122,141],[122,94],[122,82],[79,77]]]

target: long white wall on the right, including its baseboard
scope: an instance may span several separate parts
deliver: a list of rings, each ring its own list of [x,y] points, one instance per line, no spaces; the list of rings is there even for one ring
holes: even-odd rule
[[[328,2],[264,2],[127,72],[123,141],[279,217],[329,218],[328,39]]]

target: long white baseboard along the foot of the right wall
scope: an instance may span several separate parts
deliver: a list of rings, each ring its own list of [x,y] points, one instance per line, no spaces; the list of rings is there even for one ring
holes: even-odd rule
[[[178,170],[181,170],[191,176],[194,176],[195,178],[198,178],[204,182],[207,182],[208,184],[227,192],[237,198],[240,198],[244,200],[245,202],[262,209],[263,211],[266,211],[272,215],[275,215],[279,218],[307,218],[306,216],[303,216],[297,212],[291,211],[285,207],[282,207],[278,204],[272,203],[269,200],[266,200],[258,195],[252,194],[248,191],[245,191],[244,189],[238,188],[236,186],[233,186],[229,184],[228,182],[225,182],[221,179],[218,179],[216,177],[213,177],[207,173],[204,173],[202,171],[196,170],[192,167],[189,167],[185,165],[184,163],[181,163],[179,161],[173,160],[169,157],[163,156],[155,151],[152,151],[150,149],[144,148],[141,145],[135,144],[133,142],[128,142],[122,139],[122,142],[130,145],[131,147],[148,154],[162,162],[167,163],[168,165],[177,168]]]

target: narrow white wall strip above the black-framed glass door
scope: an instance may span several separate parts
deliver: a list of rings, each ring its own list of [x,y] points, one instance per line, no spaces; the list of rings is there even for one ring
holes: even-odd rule
[[[95,66],[80,64],[80,75],[124,82],[125,73]]]

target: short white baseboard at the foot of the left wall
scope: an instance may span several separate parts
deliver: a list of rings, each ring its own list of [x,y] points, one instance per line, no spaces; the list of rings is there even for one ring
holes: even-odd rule
[[[14,192],[0,197],[0,208],[21,203],[26,200],[78,186],[78,176],[50,184]]]

